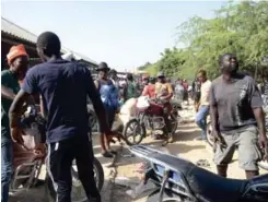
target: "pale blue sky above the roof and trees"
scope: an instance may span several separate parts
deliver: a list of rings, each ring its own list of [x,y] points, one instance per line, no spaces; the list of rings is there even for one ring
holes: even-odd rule
[[[2,16],[34,34],[51,31],[65,47],[118,70],[155,62],[175,45],[176,26],[213,16],[222,1],[2,1]]]

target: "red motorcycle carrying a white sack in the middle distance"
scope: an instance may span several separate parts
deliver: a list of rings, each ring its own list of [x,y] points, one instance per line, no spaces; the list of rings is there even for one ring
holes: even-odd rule
[[[137,102],[137,115],[124,127],[123,136],[128,145],[136,145],[147,136],[147,130],[151,133],[156,130],[165,130],[166,124],[163,116],[163,104],[158,100],[150,100],[148,97],[139,97]],[[173,134],[177,130],[177,111],[170,105],[168,122]]]

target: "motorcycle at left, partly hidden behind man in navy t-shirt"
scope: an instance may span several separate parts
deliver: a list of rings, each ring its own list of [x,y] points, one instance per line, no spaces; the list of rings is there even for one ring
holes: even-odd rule
[[[21,124],[25,134],[22,135],[24,144],[13,143],[14,154],[14,175],[10,183],[10,192],[13,195],[18,195],[21,192],[35,187],[38,182],[38,178],[42,173],[42,167],[45,163],[46,154],[35,153],[34,148],[45,132],[45,120],[36,112],[36,110],[30,109],[24,114],[21,120]],[[95,174],[95,181],[98,190],[102,189],[104,183],[104,171],[101,163],[94,158],[93,169]],[[72,202],[86,202],[88,198],[83,191],[82,183],[78,177],[78,169],[75,162],[71,168],[72,174]],[[46,195],[50,202],[56,201],[56,191],[53,186],[53,181],[46,174],[45,179]]]

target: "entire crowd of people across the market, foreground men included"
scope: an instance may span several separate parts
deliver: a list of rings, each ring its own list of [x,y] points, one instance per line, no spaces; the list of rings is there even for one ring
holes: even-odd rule
[[[226,177],[228,165],[238,147],[240,166],[247,178],[258,175],[257,162],[261,158],[259,147],[267,150],[263,99],[253,78],[237,72],[234,55],[225,54],[219,59],[222,75],[210,81],[205,70],[189,86],[184,79],[174,84],[159,72],[156,78],[143,75],[141,81],[128,73],[126,81],[117,76],[107,63],[101,62],[97,79],[92,79],[86,67],[63,60],[59,37],[45,32],[37,38],[37,52],[43,63],[28,69],[28,55],[23,45],[13,46],[8,54],[10,69],[1,72],[1,201],[9,199],[12,178],[12,142],[23,144],[20,117],[25,106],[33,104],[34,95],[40,95],[43,116],[47,121],[47,136],[36,150],[48,151],[50,177],[55,183],[58,202],[71,202],[71,165],[75,158],[79,178],[89,201],[101,202],[93,174],[93,148],[89,140],[88,98],[100,120],[101,146],[104,157],[113,157],[109,142],[115,135],[112,126],[120,106],[140,95],[163,104],[166,133],[170,132],[170,100],[195,100],[196,123],[201,129],[200,140],[207,140],[207,116],[211,115],[214,133],[214,162],[218,174]],[[268,78],[268,73],[266,74]],[[268,82],[264,85],[267,96]],[[171,136],[171,142],[173,136]]]

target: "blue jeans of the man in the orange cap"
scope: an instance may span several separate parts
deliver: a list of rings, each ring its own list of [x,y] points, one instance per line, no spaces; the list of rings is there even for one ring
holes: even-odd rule
[[[1,136],[1,202],[8,202],[13,173],[13,146],[12,141],[3,136]]]

